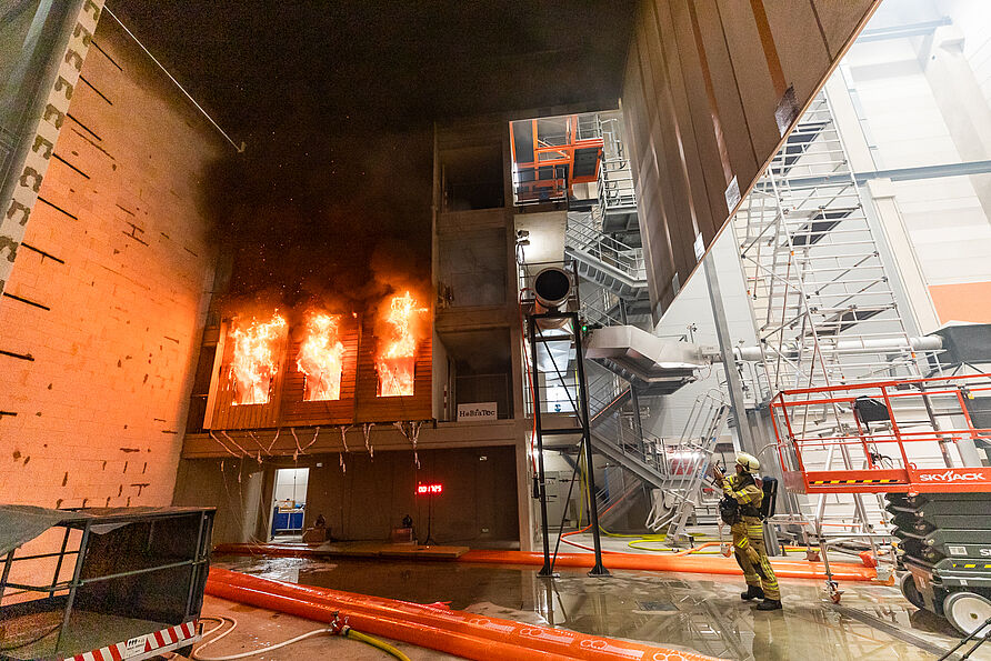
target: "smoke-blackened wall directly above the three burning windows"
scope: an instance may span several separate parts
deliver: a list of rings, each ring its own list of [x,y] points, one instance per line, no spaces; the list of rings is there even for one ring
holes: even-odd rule
[[[424,289],[431,158],[423,131],[318,134],[226,159],[207,182],[216,239],[232,256],[218,293],[360,312],[401,288]]]

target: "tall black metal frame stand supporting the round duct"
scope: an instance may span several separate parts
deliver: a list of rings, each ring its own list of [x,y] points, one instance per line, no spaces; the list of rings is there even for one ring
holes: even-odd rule
[[[537,374],[539,372],[539,362],[538,362],[538,343],[545,343],[551,340],[560,340],[560,337],[547,338],[543,333],[540,332],[538,327],[538,322],[542,319],[547,320],[565,320],[570,327],[570,338],[574,341],[574,350],[575,350],[575,363],[578,367],[578,407],[575,407],[575,413],[579,417],[579,421],[581,422],[580,428],[565,428],[565,429],[544,429],[543,421],[541,420],[541,410],[540,410],[540,388],[539,382],[537,380]],[[585,451],[585,462],[588,464],[588,480],[589,480],[589,518],[591,520],[592,527],[592,540],[595,549],[595,564],[592,567],[592,570],[589,572],[591,577],[608,577],[609,570],[602,564],[602,543],[599,535],[599,511],[595,507],[595,477],[594,471],[592,470],[592,444],[590,439],[590,427],[589,427],[589,395],[588,395],[588,383],[585,381],[585,372],[584,372],[584,352],[582,351],[582,338],[581,338],[581,322],[579,321],[577,312],[543,312],[543,313],[533,313],[527,316],[528,321],[528,339],[530,341],[530,352],[531,352],[531,369],[533,370],[533,420],[534,420],[534,431],[537,437],[537,482],[538,482],[538,497],[540,499],[540,523],[541,523],[541,537],[543,540],[543,567],[538,572],[539,577],[552,577],[553,575],[553,561],[551,559],[550,552],[550,533],[548,531],[548,521],[547,521],[547,475],[544,473],[543,468],[543,437],[548,435],[561,435],[561,434],[570,434],[574,435],[581,434],[581,444],[584,445]],[[570,394],[569,394],[570,397]],[[560,530],[558,531],[558,541],[560,543]],[[557,559],[557,548],[554,549],[554,559]]]

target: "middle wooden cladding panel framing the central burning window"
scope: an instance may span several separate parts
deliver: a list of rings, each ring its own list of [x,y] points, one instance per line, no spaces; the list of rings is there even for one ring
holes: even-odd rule
[[[299,338],[289,344],[286,361],[286,380],[282,383],[282,424],[350,424],[354,421],[354,393],[358,368],[359,324],[352,317],[343,317],[341,343],[344,355],[341,364],[341,399],[332,401],[303,401],[307,377],[297,365]]]

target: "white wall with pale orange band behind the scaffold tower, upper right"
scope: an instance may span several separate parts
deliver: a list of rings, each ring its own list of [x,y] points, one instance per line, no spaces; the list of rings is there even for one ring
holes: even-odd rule
[[[840,129],[870,151],[854,162],[859,171],[991,158],[991,12],[965,0],[900,0],[883,4],[867,31],[925,21],[945,24],[855,43],[843,60],[837,91],[854,99],[859,122]],[[937,323],[991,321],[991,174],[871,182],[871,192],[910,291],[904,271],[918,263],[925,290],[914,292],[913,308],[932,306]],[[910,247],[899,250],[902,238]]]

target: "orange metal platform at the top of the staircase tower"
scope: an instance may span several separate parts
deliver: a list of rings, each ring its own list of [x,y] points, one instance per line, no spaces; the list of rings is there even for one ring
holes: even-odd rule
[[[575,183],[599,180],[603,140],[594,113],[518,120],[509,132],[517,204],[563,200]]]

